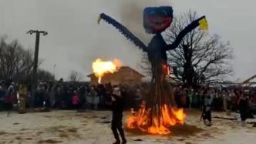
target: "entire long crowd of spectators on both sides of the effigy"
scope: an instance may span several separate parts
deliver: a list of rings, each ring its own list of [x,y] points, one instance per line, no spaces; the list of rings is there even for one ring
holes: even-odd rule
[[[125,108],[139,108],[140,102],[147,99],[149,93],[146,86],[117,85],[125,101]],[[111,103],[113,85],[86,85],[76,82],[38,82],[35,92],[31,85],[22,85],[15,82],[0,83],[0,109],[10,109],[12,105],[19,104],[20,112],[25,107],[49,109],[108,109]],[[34,96],[32,96],[34,93]],[[173,87],[174,99],[178,107],[203,109],[204,105],[211,103],[214,111],[239,111],[241,99],[244,106],[252,110],[256,103],[256,94],[251,90],[241,89],[214,89],[200,87],[199,89]],[[209,99],[207,99],[209,98]]]

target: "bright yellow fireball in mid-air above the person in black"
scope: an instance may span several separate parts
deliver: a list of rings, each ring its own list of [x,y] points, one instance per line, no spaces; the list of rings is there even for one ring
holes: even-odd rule
[[[113,62],[103,62],[102,59],[96,59],[93,62],[93,73],[98,78],[98,82],[101,83],[103,75],[116,72],[120,65],[121,62],[118,59],[114,59]]]

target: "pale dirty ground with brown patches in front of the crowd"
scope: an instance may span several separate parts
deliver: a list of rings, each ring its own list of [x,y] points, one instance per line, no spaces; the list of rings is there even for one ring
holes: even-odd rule
[[[125,116],[129,112],[125,112]],[[224,117],[222,112],[213,116]],[[131,144],[252,144],[256,142],[256,128],[251,124],[241,127],[234,120],[213,119],[213,126],[200,122],[200,112],[187,111],[184,126],[171,128],[170,136],[149,136],[136,130],[127,130]],[[19,115],[0,112],[0,144],[4,143],[88,143],[111,144],[114,139],[110,129],[111,112],[108,111],[52,111]],[[124,118],[125,121],[125,118]]]

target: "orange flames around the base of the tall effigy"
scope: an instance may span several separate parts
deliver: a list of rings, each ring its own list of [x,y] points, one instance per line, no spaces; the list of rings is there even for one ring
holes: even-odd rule
[[[152,113],[151,109],[146,109],[146,102],[143,102],[137,113],[132,112],[127,119],[126,127],[128,129],[140,129],[153,135],[170,134],[170,126],[184,124],[186,117],[183,109],[173,109],[168,105],[162,105],[159,115]],[[151,118],[151,119],[150,119]]]

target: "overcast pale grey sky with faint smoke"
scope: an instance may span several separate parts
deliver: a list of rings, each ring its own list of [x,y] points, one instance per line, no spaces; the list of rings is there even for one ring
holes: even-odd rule
[[[207,15],[210,31],[234,48],[232,79],[256,74],[254,0],[0,0],[0,35],[34,49],[35,35],[25,32],[49,32],[41,39],[39,58],[43,59],[41,68],[50,72],[56,64],[57,79],[66,79],[72,70],[86,79],[96,58],[120,59],[137,69],[142,52],[116,29],[104,22],[97,25],[96,20],[105,12],[147,43],[150,35],[143,31],[142,12],[152,5],[172,5],[174,16],[190,9]]]

